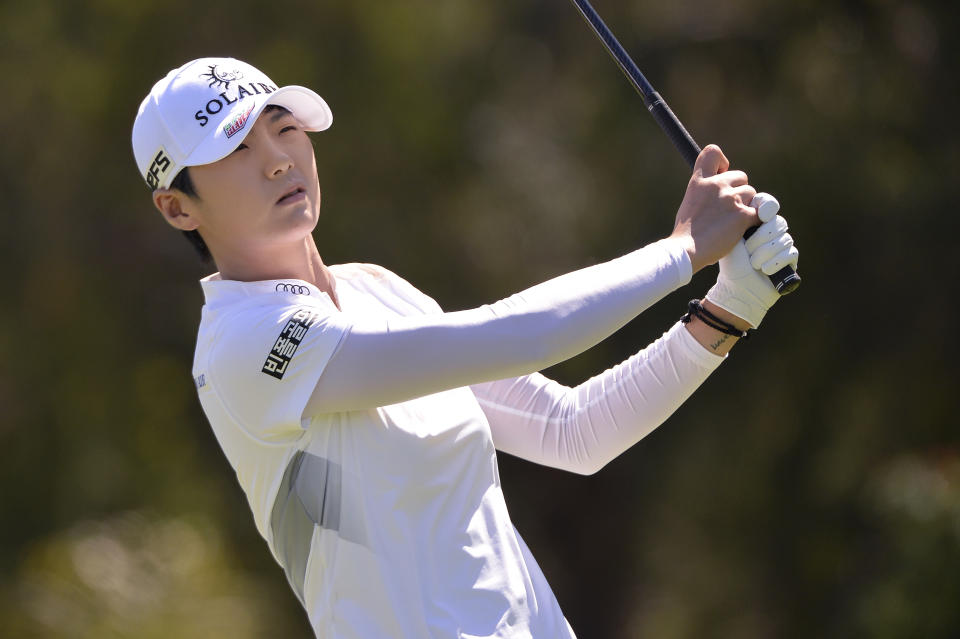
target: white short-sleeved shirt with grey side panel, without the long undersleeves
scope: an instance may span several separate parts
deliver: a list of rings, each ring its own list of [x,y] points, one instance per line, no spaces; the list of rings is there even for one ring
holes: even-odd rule
[[[357,318],[441,313],[380,267],[202,280],[194,377],[260,533],[318,637],[573,637],[510,521],[468,387],[303,417]],[[442,353],[437,353],[442,357]]]

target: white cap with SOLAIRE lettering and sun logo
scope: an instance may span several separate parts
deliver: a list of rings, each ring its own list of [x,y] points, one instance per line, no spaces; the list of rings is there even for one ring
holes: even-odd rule
[[[270,104],[288,109],[307,131],[333,123],[319,95],[295,85],[277,88],[246,62],[199,58],[174,69],[153,85],[133,123],[140,175],[151,190],[167,188],[182,168],[226,157]]]

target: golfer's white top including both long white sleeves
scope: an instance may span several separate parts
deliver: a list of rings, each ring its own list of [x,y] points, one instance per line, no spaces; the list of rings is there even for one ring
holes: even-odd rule
[[[443,313],[381,267],[202,281],[204,411],[318,637],[573,637],[513,527],[496,449],[591,473],[722,358],[680,324],[566,388],[536,371],[685,284],[661,241],[492,305]]]

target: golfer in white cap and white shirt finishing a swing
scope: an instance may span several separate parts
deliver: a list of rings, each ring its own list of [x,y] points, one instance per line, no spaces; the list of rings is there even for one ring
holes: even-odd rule
[[[708,146],[669,237],[444,312],[383,267],[324,264],[307,132],[331,122],[313,91],[203,58],[133,125],[156,208],[218,269],[193,375],[257,529],[318,637],[574,637],[496,451],[589,474],[656,428],[778,299],[764,274],[797,263],[786,222],[745,243],[756,191]],[[706,298],[623,363],[576,388],[537,372],[717,261]]]

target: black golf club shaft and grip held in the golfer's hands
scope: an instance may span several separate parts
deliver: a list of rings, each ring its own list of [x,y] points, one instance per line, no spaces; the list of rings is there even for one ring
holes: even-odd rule
[[[620,67],[620,70],[623,71],[627,79],[630,80],[630,84],[632,84],[633,88],[640,94],[650,115],[653,116],[653,119],[657,121],[657,124],[663,129],[663,132],[666,133],[670,141],[673,142],[673,145],[677,148],[677,151],[680,152],[680,155],[683,156],[687,165],[693,169],[697,156],[700,155],[700,146],[694,141],[693,136],[684,128],[673,111],[670,110],[666,100],[660,97],[660,94],[656,92],[653,85],[643,76],[643,73],[640,72],[640,69],[630,58],[626,49],[623,48],[590,3],[587,0],[572,0],[572,2],[577,6],[577,9],[580,10],[580,13],[587,21],[587,24],[590,25],[590,28],[593,29],[596,36],[603,42],[603,46],[606,47],[607,52],[616,61],[617,66]],[[750,237],[755,231],[756,227],[747,229],[744,237]],[[769,277],[780,295],[792,293],[800,286],[800,276],[793,267],[789,265]]]

